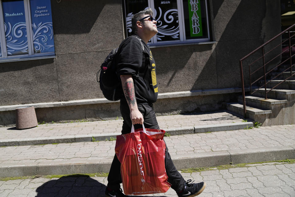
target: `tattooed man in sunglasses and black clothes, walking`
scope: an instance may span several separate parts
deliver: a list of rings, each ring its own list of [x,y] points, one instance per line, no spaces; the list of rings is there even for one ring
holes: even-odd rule
[[[120,111],[123,117],[122,134],[130,133],[132,124],[135,129],[142,127],[159,129],[153,110],[153,103],[158,96],[156,80],[156,64],[147,46],[148,41],[158,33],[156,21],[152,17],[151,8],[142,10],[132,17],[134,36],[126,38],[119,46],[117,58],[117,74],[122,81],[125,97],[120,100]],[[136,38],[137,37],[137,38]],[[144,51],[142,50],[142,42]],[[124,197],[120,183],[120,161],[115,155],[108,175],[106,197]],[[165,168],[168,182],[178,196],[193,197],[199,195],[206,187],[206,183],[191,183],[183,179],[176,170],[168,148],[165,152]]]

